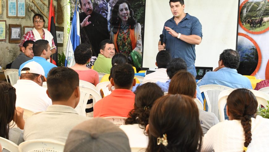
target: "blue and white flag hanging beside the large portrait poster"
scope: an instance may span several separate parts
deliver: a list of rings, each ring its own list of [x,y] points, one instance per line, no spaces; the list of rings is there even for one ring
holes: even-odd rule
[[[78,11],[78,0],[76,0],[76,7],[74,11],[73,20],[70,26],[68,42],[66,47],[65,66],[71,67],[75,65],[74,51],[79,44],[80,44],[79,11]]]

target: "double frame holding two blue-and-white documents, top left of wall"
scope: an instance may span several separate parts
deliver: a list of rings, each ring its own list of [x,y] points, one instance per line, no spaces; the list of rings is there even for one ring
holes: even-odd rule
[[[7,18],[25,18],[25,0],[7,0]]]

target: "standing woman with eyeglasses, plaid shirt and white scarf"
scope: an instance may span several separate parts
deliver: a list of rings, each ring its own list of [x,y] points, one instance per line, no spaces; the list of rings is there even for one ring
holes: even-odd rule
[[[21,40],[19,44],[19,50],[21,50],[23,43],[27,40],[37,41],[40,39],[45,39],[49,41],[49,46],[55,47],[55,43],[53,41],[53,36],[51,33],[44,29],[45,20],[44,17],[41,14],[35,14],[33,16],[33,24],[34,28],[31,31],[28,31],[26,34],[23,35],[23,39]],[[56,47],[51,50],[52,54],[56,52]]]

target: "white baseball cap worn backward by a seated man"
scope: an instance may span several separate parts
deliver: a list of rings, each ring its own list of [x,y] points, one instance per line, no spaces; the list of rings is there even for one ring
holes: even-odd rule
[[[28,73],[41,74],[44,77],[43,81],[44,82],[46,81],[45,71],[44,71],[43,67],[39,63],[37,63],[36,61],[28,62],[27,64],[25,64],[23,66],[23,68],[29,68],[29,70],[26,70],[26,71],[21,70],[20,71],[21,74],[28,74]]]

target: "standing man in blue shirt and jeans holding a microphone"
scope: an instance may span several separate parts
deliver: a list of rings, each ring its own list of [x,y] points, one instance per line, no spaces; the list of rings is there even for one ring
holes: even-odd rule
[[[159,41],[158,49],[166,49],[172,58],[185,60],[187,70],[196,77],[195,45],[202,41],[202,25],[196,17],[184,13],[184,0],[170,0],[169,4],[173,17],[164,23],[164,43]]]

